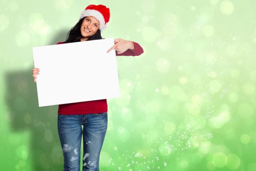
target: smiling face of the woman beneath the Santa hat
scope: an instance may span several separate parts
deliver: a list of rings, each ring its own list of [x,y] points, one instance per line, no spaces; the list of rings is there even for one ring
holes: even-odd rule
[[[85,17],[81,24],[81,41],[87,41],[88,37],[94,35],[99,29],[99,21],[92,16]]]

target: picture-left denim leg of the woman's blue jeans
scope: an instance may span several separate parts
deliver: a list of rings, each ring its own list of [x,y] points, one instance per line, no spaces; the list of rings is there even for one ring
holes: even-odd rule
[[[64,156],[64,171],[80,170],[81,116],[58,115],[59,140]]]

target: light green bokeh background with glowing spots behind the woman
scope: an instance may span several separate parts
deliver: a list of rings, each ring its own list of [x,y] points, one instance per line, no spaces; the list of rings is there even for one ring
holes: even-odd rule
[[[0,0],[0,170],[62,170],[32,47],[65,41],[91,3],[111,10],[104,38],[144,49],[117,58],[100,171],[256,171],[255,0]]]

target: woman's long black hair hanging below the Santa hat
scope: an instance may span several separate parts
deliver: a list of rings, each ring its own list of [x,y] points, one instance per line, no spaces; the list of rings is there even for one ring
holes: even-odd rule
[[[82,35],[81,35],[80,29],[81,29],[81,24],[84,18],[85,17],[80,19],[78,23],[73,28],[71,28],[71,30],[69,30],[65,43],[73,43],[73,42],[81,41]],[[100,29],[98,29],[94,35],[90,36],[87,41],[98,40],[98,39],[102,39]]]

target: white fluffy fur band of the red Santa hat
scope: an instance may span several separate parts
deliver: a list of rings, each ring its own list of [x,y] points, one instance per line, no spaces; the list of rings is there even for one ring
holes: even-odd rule
[[[83,10],[79,20],[86,16],[93,16],[99,21],[99,29],[101,32],[107,27],[107,25],[105,24],[103,15],[100,12],[98,12],[97,10],[94,10],[94,9]]]

